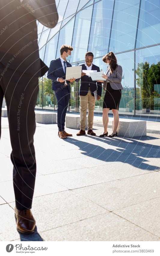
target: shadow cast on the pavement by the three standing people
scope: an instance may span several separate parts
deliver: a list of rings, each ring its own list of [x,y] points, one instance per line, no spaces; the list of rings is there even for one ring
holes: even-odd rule
[[[153,146],[152,144],[147,144],[147,142],[139,142],[133,138],[120,138],[120,137],[105,137],[99,138],[97,136],[89,136],[89,139],[93,139],[93,143],[88,143],[86,141],[79,141],[74,138],[68,138],[64,140],[67,143],[71,143],[79,147],[80,150],[84,151],[81,154],[85,156],[90,156],[92,158],[102,160],[105,162],[122,162],[131,164],[134,167],[144,170],[159,170],[159,166],[152,166],[147,164],[147,160],[143,158],[155,157],[159,150],[159,146]],[[149,140],[149,136],[146,140]],[[152,138],[153,139],[153,138]],[[99,142],[104,143],[103,146],[98,146]],[[108,146],[108,148],[107,148]],[[110,146],[115,147],[114,149]],[[158,158],[158,154],[156,155]],[[135,161],[139,160],[139,161]],[[144,163],[145,162],[145,163]]]

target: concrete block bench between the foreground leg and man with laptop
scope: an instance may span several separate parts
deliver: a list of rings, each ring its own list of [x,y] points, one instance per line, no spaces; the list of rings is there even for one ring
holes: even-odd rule
[[[36,113],[36,122],[40,124],[53,124],[57,122],[56,113]]]

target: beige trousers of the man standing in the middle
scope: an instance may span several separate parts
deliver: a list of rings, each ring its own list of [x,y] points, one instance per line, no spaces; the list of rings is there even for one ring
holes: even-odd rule
[[[86,114],[88,108],[88,130],[92,130],[95,108],[95,96],[92,96],[90,89],[86,96],[80,95],[80,129],[85,131]]]

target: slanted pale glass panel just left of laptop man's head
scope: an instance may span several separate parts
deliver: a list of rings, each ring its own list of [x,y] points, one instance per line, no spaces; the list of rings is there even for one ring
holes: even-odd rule
[[[56,49],[57,49],[57,42],[58,42],[58,35],[57,33],[47,44],[46,44],[46,51],[44,55],[44,62],[47,66],[50,65],[51,60],[56,58]]]

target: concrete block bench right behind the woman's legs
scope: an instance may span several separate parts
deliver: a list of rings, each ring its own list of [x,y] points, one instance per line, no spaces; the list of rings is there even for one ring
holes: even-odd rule
[[[117,128],[117,133],[119,136],[122,137],[146,136],[146,121],[131,119],[120,120]]]

